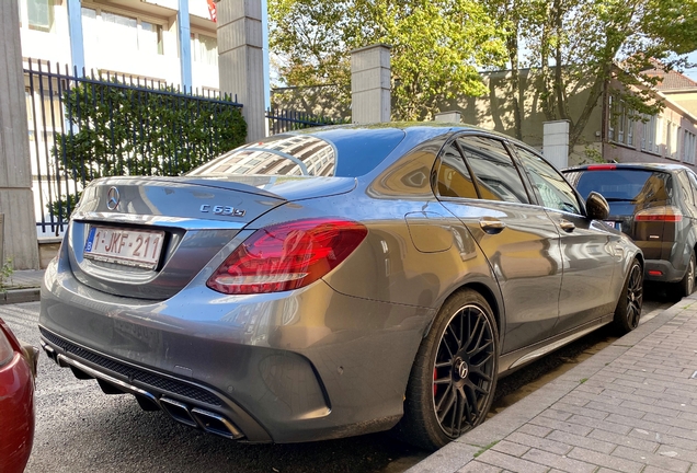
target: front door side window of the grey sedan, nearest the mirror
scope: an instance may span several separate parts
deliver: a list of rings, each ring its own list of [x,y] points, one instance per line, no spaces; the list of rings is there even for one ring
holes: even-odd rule
[[[519,147],[516,147],[516,150],[542,205],[547,208],[581,215],[576,194],[561,174],[534,152]]]

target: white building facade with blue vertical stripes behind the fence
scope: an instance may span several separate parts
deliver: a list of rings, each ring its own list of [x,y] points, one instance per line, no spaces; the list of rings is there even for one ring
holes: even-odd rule
[[[15,1],[25,60],[218,90],[213,0]]]

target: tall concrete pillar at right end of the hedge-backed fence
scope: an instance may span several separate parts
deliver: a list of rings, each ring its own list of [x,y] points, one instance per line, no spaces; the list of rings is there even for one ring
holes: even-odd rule
[[[220,92],[243,105],[247,140],[266,136],[262,0],[218,2]]]

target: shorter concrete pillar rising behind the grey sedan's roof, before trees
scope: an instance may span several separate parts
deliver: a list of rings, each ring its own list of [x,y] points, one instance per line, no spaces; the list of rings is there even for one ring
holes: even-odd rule
[[[377,44],[351,51],[351,115],[355,124],[390,120],[390,48]]]

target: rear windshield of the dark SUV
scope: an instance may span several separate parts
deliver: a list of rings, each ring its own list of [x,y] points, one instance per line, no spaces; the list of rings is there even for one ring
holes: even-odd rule
[[[656,201],[672,197],[671,174],[645,170],[564,173],[583,198],[595,191],[607,201]]]

